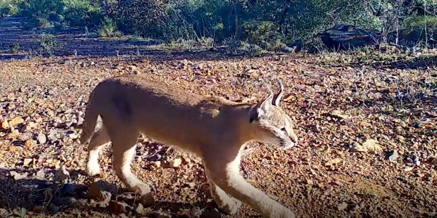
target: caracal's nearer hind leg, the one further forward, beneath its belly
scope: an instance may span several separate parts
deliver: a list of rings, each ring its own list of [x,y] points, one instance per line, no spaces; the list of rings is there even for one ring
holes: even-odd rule
[[[130,191],[140,195],[147,195],[150,193],[150,187],[138,179],[131,171],[131,162],[137,147],[138,131],[123,125],[118,125],[115,128],[109,131],[113,145],[113,167],[115,172]]]

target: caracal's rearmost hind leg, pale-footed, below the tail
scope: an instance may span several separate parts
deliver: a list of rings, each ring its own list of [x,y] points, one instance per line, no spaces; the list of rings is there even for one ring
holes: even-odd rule
[[[86,164],[86,171],[88,175],[93,176],[100,173],[100,166],[98,163],[99,152],[110,142],[111,141],[108,132],[104,125],[99,131],[92,135],[92,138],[88,144],[88,163]]]

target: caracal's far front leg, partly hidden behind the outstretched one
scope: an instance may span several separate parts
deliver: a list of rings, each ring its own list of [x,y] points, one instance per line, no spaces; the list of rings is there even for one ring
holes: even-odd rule
[[[204,167],[205,177],[210,184],[210,193],[214,201],[216,201],[217,206],[223,212],[233,215],[235,214],[241,206],[241,202],[233,197],[227,195],[214,181],[211,179],[211,172],[207,167]]]

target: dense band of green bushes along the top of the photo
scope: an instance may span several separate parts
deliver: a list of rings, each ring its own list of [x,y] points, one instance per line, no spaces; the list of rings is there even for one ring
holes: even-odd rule
[[[182,48],[216,46],[232,39],[272,51],[283,43],[313,40],[316,33],[339,23],[392,33],[395,18],[407,30],[402,34],[414,38],[425,35],[424,14],[428,14],[428,36],[437,35],[436,0],[401,1],[0,0],[0,11],[29,16],[34,27],[86,27],[88,33],[101,37],[123,32],[172,41]]]

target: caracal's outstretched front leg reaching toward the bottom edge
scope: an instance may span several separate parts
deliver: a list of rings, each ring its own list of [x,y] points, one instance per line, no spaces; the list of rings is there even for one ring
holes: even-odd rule
[[[223,160],[223,161],[220,161]],[[216,162],[208,163],[211,179],[224,192],[232,197],[247,203],[258,211],[265,218],[294,218],[294,213],[290,209],[276,202],[261,190],[246,182],[240,175],[238,166],[240,156],[232,161],[226,159],[215,159]]]

